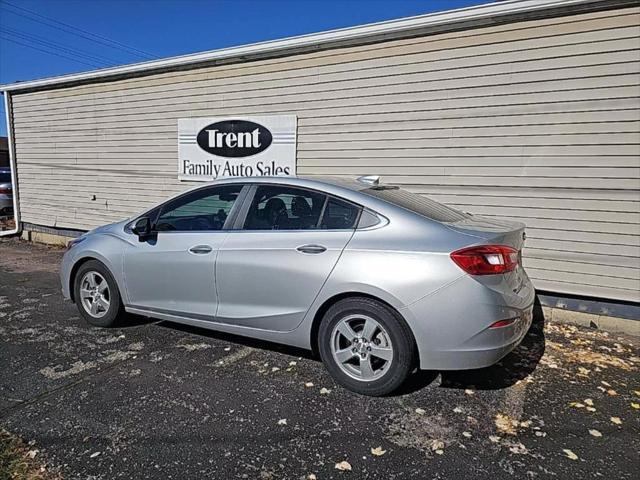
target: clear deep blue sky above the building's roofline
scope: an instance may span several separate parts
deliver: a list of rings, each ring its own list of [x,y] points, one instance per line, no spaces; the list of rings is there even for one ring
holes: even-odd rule
[[[0,83],[480,3],[487,1],[0,0]],[[0,113],[5,135],[4,106]]]

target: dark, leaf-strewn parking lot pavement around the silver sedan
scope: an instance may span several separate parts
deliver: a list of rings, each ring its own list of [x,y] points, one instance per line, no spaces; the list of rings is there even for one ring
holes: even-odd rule
[[[499,365],[367,398],[305,351],[140,317],[90,327],[60,295],[61,254],[0,241],[0,426],[54,477],[637,475],[635,338],[538,311]]]

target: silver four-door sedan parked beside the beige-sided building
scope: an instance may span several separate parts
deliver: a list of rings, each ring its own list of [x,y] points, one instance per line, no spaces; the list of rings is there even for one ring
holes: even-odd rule
[[[93,325],[130,312],[308,348],[338,383],[384,395],[521,341],[524,238],[377,177],[233,178],[74,239],[62,290]]]

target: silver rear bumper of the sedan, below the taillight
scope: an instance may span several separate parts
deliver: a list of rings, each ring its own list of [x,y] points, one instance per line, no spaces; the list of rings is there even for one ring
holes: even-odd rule
[[[524,277],[517,293],[503,293],[464,276],[402,309],[416,339],[420,368],[482,368],[511,352],[533,319],[535,290]],[[508,326],[491,327],[511,319]]]

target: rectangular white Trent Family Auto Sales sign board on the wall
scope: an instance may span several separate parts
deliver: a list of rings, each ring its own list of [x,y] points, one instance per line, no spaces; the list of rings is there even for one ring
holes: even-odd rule
[[[178,120],[178,178],[296,174],[295,115]]]

